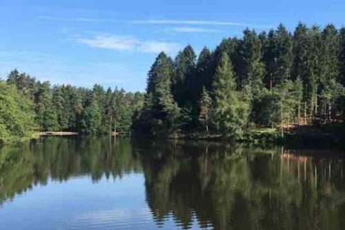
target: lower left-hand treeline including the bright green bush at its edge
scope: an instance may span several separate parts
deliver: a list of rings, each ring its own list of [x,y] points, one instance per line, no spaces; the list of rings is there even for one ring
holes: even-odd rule
[[[0,87],[0,142],[32,131],[130,133],[144,101],[143,93],[104,90],[98,84],[91,90],[50,86],[17,70]]]

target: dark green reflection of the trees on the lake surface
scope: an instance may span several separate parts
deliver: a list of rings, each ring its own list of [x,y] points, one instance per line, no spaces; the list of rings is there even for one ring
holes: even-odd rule
[[[182,229],[341,229],[341,154],[207,142],[47,138],[0,151],[0,202],[81,175],[142,173],[152,220]],[[68,194],[66,194],[68,195]]]

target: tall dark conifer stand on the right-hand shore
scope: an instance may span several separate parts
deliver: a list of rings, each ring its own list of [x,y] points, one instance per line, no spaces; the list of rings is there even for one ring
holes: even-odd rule
[[[342,121],[345,28],[244,30],[199,57],[161,52],[148,73],[139,133],[239,136],[246,128]]]

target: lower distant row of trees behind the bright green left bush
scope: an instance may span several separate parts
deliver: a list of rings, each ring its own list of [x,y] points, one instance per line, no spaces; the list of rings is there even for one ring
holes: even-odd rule
[[[34,106],[38,126],[35,131],[76,131],[99,134],[115,131],[130,133],[132,117],[138,116],[144,101],[143,93],[126,93],[96,84],[92,90],[70,85],[50,87],[49,82],[37,82],[26,73],[13,70],[6,86],[17,88],[22,97]],[[115,99],[115,95],[121,95]],[[1,124],[3,138],[10,136]],[[6,140],[9,142],[10,140]]]

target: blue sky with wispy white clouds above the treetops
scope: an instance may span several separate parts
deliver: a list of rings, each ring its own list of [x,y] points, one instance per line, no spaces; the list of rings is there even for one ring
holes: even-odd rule
[[[213,49],[244,28],[344,25],[343,0],[1,0],[0,77],[144,90],[160,50]]]

